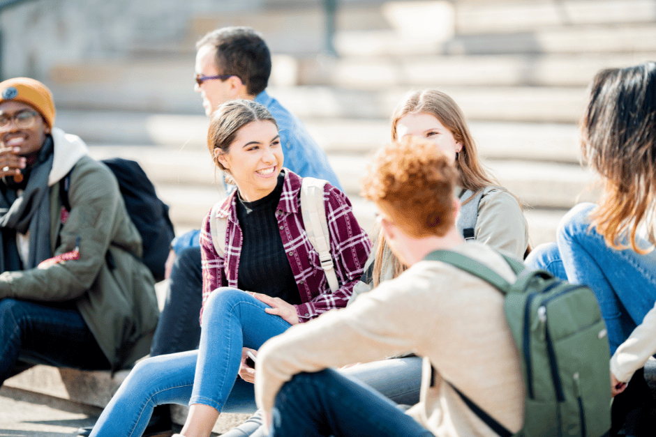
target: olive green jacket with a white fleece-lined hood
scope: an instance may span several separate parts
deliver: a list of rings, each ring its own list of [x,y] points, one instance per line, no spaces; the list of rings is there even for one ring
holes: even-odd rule
[[[75,300],[112,370],[127,367],[149,353],[159,316],[154,279],[137,258],[141,237],[110,169],[89,158],[79,138],[58,129],[52,136],[51,176],[57,175],[49,181],[52,252],[71,252],[79,242],[80,256],[2,273],[0,298]],[[68,171],[70,213],[65,217],[59,185]]]

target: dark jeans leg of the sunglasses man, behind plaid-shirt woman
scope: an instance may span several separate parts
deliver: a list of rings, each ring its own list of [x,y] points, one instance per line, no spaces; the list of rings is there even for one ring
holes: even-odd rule
[[[200,342],[202,270],[200,247],[187,247],[176,256],[166,302],[151,344],[150,355],[194,351]]]

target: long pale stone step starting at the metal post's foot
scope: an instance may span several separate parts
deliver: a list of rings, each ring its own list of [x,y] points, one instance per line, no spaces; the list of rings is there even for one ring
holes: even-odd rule
[[[350,56],[334,63],[330,83],[366,90],[389,86],[587,86],[602,68],[632,66],[651,59],[656,59],[655,52]],[[325,84],[322,75],[300,74],[302,84]]]

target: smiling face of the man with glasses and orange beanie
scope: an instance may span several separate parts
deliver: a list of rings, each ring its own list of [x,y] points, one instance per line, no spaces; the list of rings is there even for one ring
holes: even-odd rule
[[[17,147],[19,149],[17,155],[27,156],[40,150],[45,142],[45,136],[50,133],[50,128],[36,109],[27,103],[11,100],[0,103],[0,114],[14,116],[22,111],[36,112],[34,123],[29,128],[19,128],[15,121],[12,121],[6,128],[0,128],[0,146]]]

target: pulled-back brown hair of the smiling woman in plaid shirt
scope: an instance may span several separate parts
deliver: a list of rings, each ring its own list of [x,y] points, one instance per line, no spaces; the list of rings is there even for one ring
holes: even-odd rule
[[[221,155],[228,153],[234,137],[237,137],[237,132],[253,121],[271,121],[276,128],[278,127],[276,118],[271,115],[269,110],[253,100],[231,100],[220,105],[212,113],[209,130],[207,130],[207,148],[212,155],[214,164],[227,174],[230,174],[230,171],[223,167],[214,151],[221,149]],[[228,179],[226,180],[228,181]]]

